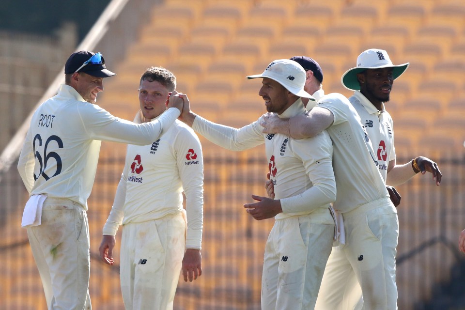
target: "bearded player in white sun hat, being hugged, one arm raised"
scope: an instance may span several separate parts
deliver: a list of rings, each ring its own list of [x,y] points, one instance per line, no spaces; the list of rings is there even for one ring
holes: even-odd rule
[[[314,100],[303,91],[305,71],[297,62],[275,60],[263,74],[248,78],[263,78],[259,95],[267,110],[279,117],[304,114],[300,97]],[[265,245],[262,309],[313,309],[334,235],[334,219],[328,207],[335,200],[336,187],[327,133],[294,140],[281,134],[263,134],[261,118],[240,129],[211,123],[190,112],[187,97],[183,96],[182,120],[208,140],[234,151],[265,143],[279,200],[267,208],[260,202],[244,205],[255,219],[275,217]]]

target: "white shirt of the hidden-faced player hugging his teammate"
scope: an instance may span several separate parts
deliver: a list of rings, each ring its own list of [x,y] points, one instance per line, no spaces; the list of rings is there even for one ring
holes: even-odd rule
[[[328,109],[334,115],[333,124],[326,129],[333,141],[333,168],[338,189],[334,208],[344,213],[389,197],[377,167],[376,153],[356,109],[340,93],[320,98],[317,107]]]

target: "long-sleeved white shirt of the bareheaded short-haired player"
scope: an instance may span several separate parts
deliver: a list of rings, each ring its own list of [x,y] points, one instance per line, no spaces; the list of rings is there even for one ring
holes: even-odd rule
[[[134,122],[140,123],[139,115]],[[163,137],[153,143],[127,146],[123,174],[103,234],[114,236],[121,224],[180,212],[183,191],[187,213],[186,248],[201,249],[202,145],[189,126],[176,120]]]

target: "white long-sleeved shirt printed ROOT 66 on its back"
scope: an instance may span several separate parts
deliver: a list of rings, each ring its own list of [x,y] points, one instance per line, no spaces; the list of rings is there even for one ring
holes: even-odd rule
[[[68,198],[87,210],[101,140],[146,145],[158,139],[180,115],[134,124],[86,102],[71,86],[34,112],[19,156],[18,171],[30,195]]]

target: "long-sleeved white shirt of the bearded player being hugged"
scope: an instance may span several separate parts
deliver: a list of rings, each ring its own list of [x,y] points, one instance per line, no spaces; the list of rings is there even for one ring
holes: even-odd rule
[[[279,117],[289,118],[305,112],[299,98]],[[246,150],[265,143],[275,199],[281,200],[283,211],[276,219],[309,214],[316,208],[327,208],[336,197],[336,183],[331,166],[332,144],[327,132],[301,140],[281,134],[263,134],[261,118],[236,129],[197,116],[192,128],[213,143],[233,151]]]

